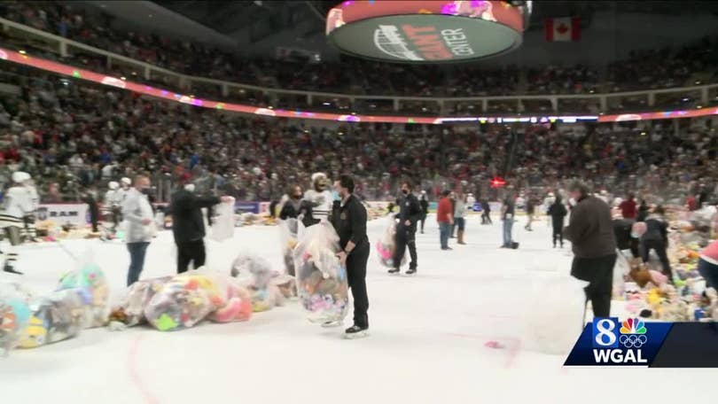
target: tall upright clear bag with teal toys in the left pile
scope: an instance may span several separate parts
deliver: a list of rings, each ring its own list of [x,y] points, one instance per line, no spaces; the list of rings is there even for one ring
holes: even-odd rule
[[[68,272],[59,280],[58,291],[82,289],[88,296],[83,328],[102,327],[109,315],[109,291],[105,273],[87,258],[81,268]]]

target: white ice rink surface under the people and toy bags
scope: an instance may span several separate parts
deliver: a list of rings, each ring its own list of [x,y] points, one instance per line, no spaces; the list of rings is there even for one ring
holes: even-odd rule
[[[571,256],[552,249],[546,221],[535,231],[514,226],[519,250],[503,250],[501,222],[467,220],[468,245],[439,248],[433,217],[417,235],[418,276],[388,276],[373,243],[386,221],[371,221],[367,284],[371,337],[345,340],[342,329],[307,322],[297,303],[254,315],[250,322],[203,322],[162,333],[140,326],[121,332],[84,330],[78,338],[0,358],[0,402],[20,403],[519,403],[643,402],[708,398],[714,369],[566,369],[565,357],[521,342],[527,294],[537,280],[567,273]],[[207,241],[212,268],[229,271],[242,249],[281,268],[276,227],[246,227],[222,244]],[[90,248],[115,293],[129,256],[124,245],[64,241]],[[171,232],[150,246],[143,278],[175,272]],[[20,250],[22,280],[51,291],[74,261],[59,245]],[[345,326],[351,325],[351,314]],[[545,327],[553,327],[551,323]],[[575,328],[562,330],[578,337]],[[498,348],[485,346],[496,341]],[[659,381],[658,383],[656,383]],[[683,388],[691,388],[686,393]]]

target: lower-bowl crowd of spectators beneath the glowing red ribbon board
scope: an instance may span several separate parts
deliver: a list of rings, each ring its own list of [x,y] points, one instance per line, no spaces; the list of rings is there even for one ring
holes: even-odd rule
[[[405,177],[431,195],[464,188],[491,198],[496,176],[522,189],[554,189],[579,176],[613,191],[647,187],[672,197],[691,181],[713,183],[718,172],[718,122],[710,118],[679,120],[679,128],[672,120],[308,126],[2,66],[21,92],[0,96],[0,183],[25,170],[49,202],[101,193],[107,181],[140,171],[152,172],[158,185],[191,179],[199,190],[243,200],[279,198],[292,184],[308,186],[316,171],[353,173],[369,199],[393,198]]]

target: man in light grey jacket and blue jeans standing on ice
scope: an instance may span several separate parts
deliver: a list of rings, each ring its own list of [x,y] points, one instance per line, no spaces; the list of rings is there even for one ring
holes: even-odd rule
[[[122,203],[122,217],[126,221],[125,242],[129,251],[128,286],[139,280],[144,268],[144,255],[156,231],[152,206],[147,198],[149,190],[150,178],[137,175],[135,187],[128,190]]]

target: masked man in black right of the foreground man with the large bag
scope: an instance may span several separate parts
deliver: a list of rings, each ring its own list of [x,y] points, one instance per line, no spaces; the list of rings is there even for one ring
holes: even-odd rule
[[[411,263],[406,275],[417,273],[417,222],[421,217],[421,206],[419,206],[418,198],[411,193],[411,183],[405,181],[402,183],[402,197],[399,198],[399,214],[396,219],[396,235],[394,242],[396,249],[394,250],[394,268],[389,269],[389,274],[399,272],[399,266],[402,264],[402,258],[409,247],[409,255]]]

